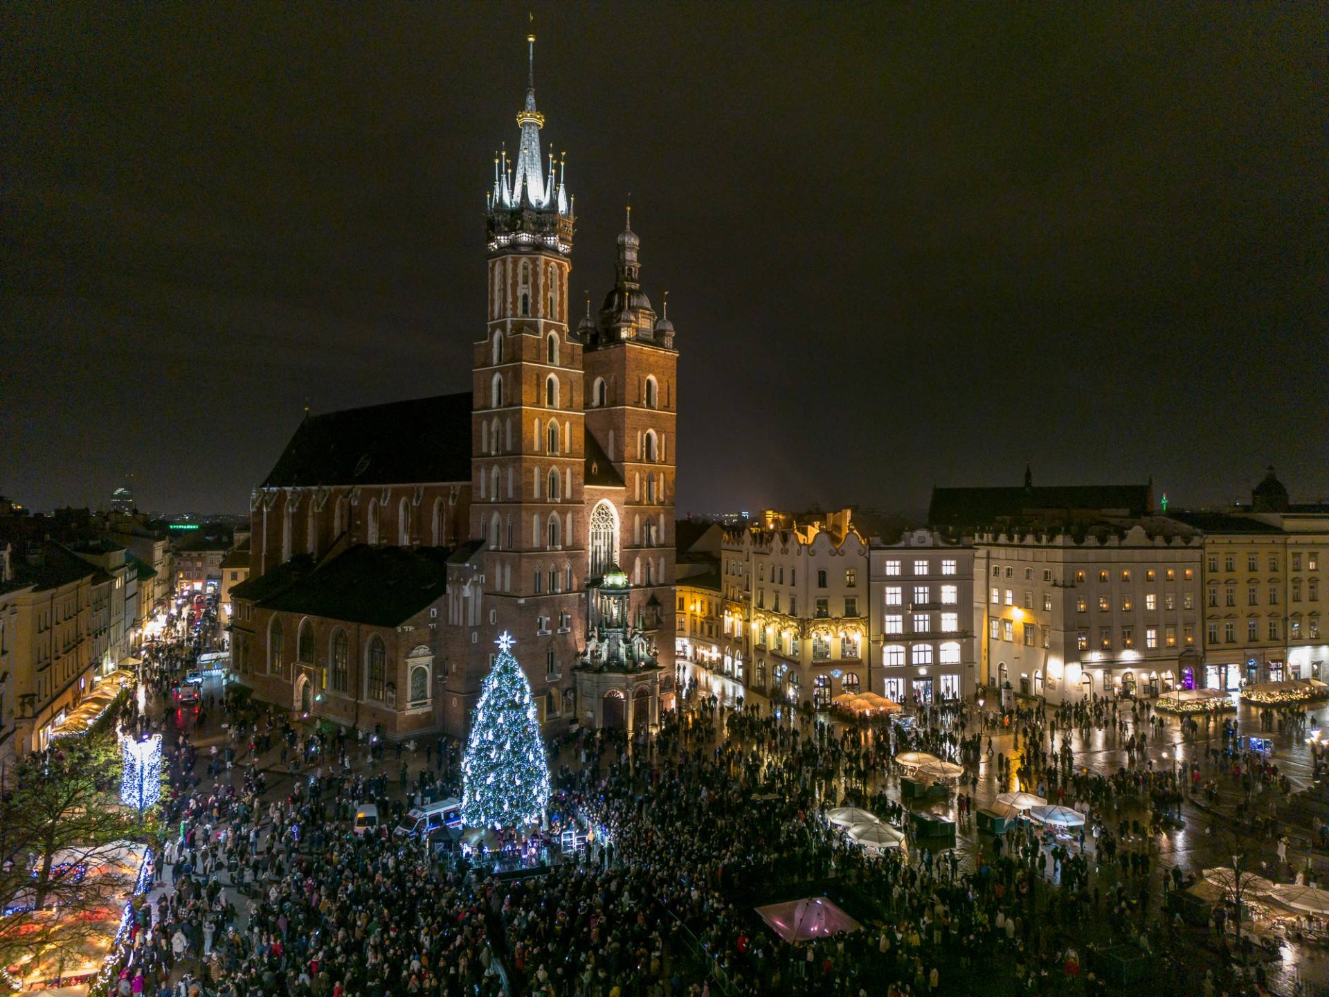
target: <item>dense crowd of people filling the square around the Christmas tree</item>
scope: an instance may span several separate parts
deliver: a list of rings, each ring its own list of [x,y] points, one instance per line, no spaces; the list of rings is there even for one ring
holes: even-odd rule
[[[158,647],[153,695],[165,703],[206,645]],[[225,728],[207,727],[210,711]],[[455,742],[412,752],[372,731],[300,728],[234,693],[205,697],[197,718],[149,709],[132,722],[150,718],[166,730],[169,832],[114,981],[129,997],[1098,993],[1087,945],[1163,953],[1177,929],[1151,891],[1155,845],[1200,766],[1155,767],[1158,718],[1115,702],[952,703],[906,728],[698,698],[634,744],[621,731],[556,740],[550,819],[589,828],[587,844],[500,876],[493,856],[391,831],[408,806],[460,795]],[[1124,752],[1118,771],[1076,763],[1071,738],[1091,728]],[[987,766],[999,787],[1079,808],[1084,828],[1017,823],[971,855],[918,840],[893,791],[910,750],[969,766],[962,826]],[[356,833],[365,800],[383,820]],[[902,824],[905,845],[864,851],[823,818],[843,803]],[[823,893],[863,929],[789,944],[754,913]],[[1180,972],[1162,961],[1160,978]]]

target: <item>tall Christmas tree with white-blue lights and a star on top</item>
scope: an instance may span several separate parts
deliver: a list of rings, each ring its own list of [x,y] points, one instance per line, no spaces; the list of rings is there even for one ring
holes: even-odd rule
[[[512,637],[496,641],[498,658],[480,689],[461,760],[461,819],[469,827],[534,824],[549,802],[549,763],[526,674]]]

